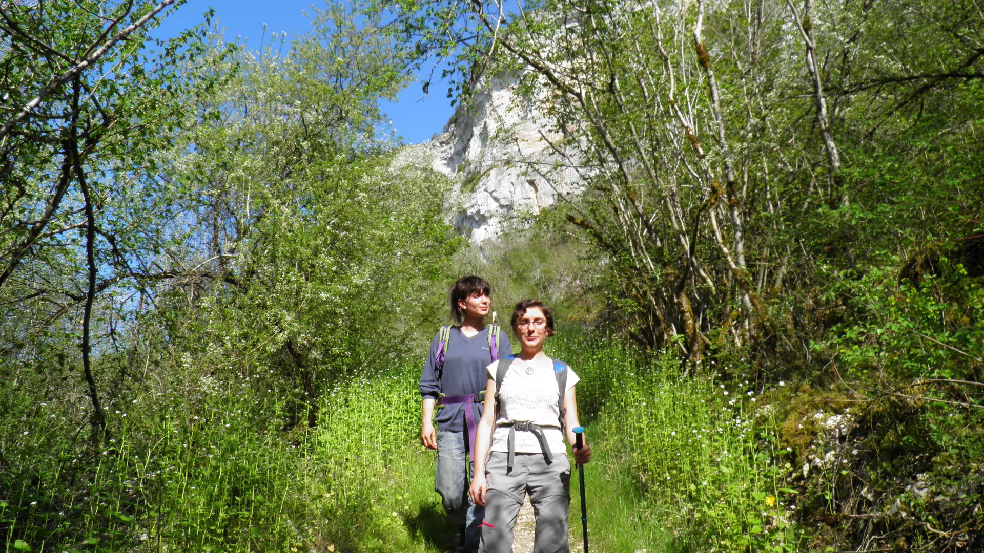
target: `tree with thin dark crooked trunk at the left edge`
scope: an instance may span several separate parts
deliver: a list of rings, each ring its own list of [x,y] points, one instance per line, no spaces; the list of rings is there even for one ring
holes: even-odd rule
[[[179,97],[211,85],[182,74],[209,62],[204,28],[149,37],[180,4],[0,6],[0,332],[11,344],[0,353],[19,375],[53,359],[64,366],[80,337],[93,436],[106,423],[92,352],[114,333],[113,317],[96,315],[97,295],[140,286],[130,266],[160,239],[141,229],[167,205],[154,154],[186,122]]]

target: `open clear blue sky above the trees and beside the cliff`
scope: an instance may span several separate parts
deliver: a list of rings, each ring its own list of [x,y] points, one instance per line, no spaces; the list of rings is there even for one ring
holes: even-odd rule
[[[263,38],[264,24],[267,24],[268,38],[271,32],[308,31],[311,24],[303,12],[311,13],[313,3],[317,4],[312,0],[188,0],[178,10],[171,11],[154,35],[172,36],[202,23],[202,14],[211,7],[215,8],[215,18],[225,28],[227,37],[241,36],[250,47],[256,48]],[[414,83],[400,92],[396,102],[382,102],[382,107],[405,142],[420,143],[440,133],[454,112],[451,100],[444,95],[447,90],[447,85],[435,82],[431,94],[424,96],[420,84]]]

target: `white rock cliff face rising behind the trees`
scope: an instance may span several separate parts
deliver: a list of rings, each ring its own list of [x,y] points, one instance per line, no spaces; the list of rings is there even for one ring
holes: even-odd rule
[[[433,167],[454,179],[448,211],[472,243],[494,239],[510,215],[537,213],[576,193],[583,179],[557,154],[564,138],[516,92],[515,79],[491,79],[445,131],[411,146],[397,163]]]

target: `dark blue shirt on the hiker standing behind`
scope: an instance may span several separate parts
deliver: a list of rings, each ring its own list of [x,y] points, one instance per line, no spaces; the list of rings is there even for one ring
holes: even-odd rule
[[[435,371],[434,362],[437,359],[438,348],[441,345],[441,332],[438,331],[431,342],[427,364],[420,375],[420,395],[437,399],[438,395],[465,396],[477,394],[485,390],[488,384],[488,372],[485,368],[492,362],[492,352],[489,350],[489,330],[491,326],[477,335],[467,338],[461,334],[459,327],[452,327],[448,338],[448,351],[444,357],[444,370],[440,380]],[[497,347],[499,356],[513,352],[513,345],[506,338],[506,331],[499,330]],[[481,404],[472,403],[475,409],[475,422],[481,417]],[[445,405],[437,409],[434,417],[438,431],[464,431],[464,403]]]

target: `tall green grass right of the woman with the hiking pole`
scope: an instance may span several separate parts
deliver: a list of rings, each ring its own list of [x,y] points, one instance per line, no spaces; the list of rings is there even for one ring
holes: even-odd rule
[[[775,425],[756,409],[748,383],[684,378],[672,355],[644,360],[601,338],[555,340],[551,353],[582,377],[580,410],[595,449],[608,450],[606,461],[641,497],[635,519],[596,526],[599,539],[618,543],[620,528],[635,524],[666,540],[648,544],[648,551],[803,548],[788,522],[795,491],[782,486],[791,469],[783,461],[788,452],[776,448]],[[625,500],[632,496],[617,498]]]

